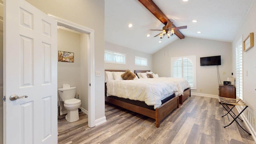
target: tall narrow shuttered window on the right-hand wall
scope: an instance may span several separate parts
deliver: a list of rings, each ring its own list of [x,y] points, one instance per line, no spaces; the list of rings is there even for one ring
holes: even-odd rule
[[[242,40],[236,45],[236,96],[243,99],[243,47]]]

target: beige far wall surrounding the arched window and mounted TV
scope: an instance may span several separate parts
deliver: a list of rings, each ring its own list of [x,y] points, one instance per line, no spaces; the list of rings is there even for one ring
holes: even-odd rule
[[[232,48],[230,42],[185,37],[176,40],[153,54],[153,71],[161,77],[171,76],[171,57],[196,55],[197,90],[191,92],[218,95],[216,66],[200,66],[200,57],[221,56],[220,80],[232,73]],[[226,74],[223,74],[225,72]],[[202,92],[200,92],[202,89]]]

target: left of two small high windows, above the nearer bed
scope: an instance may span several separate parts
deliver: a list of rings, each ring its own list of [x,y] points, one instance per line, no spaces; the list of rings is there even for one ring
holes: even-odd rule
[[[115,64],[126,64],[126,54],[105,50],[104,61]]]

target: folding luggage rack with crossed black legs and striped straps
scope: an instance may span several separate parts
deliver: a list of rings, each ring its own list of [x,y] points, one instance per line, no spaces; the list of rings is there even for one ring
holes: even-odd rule
[[[220,104],[223,106],[223,108],[225,108],[225,110],[227,111],[227,113],[226,113],[224,116],[227,116],[227,117],[228,117],[228,121],[229,121],[229,124],[226,125],[226,126],[224,126],[224,128],[226,128],[227,126],[230,126],[230,124],[232,124],[234,121],[236,121],[236,123],[237,123],[245,132],[247,132],[247,131],[241,126],[240,122],[239,122],[238,120],[236,120],[236,119],[238,118],[239,120],[243,121],[241,118],[239,118],[239,116],[240,116],[240,114],[242,114],[242,112],[244,112],[244,110],[245,110],[246,108],[248,108],[248,106],[246,105],[246,103],[245,103],[243,100],[241,100],[241,99],[224,98],[224,97],[220,97],[220,96],[219,96],[219,102],[220,102]],[[228,106],[227,104],[233,105],[232,108],[229,108],[229,106]],[[225,106],[224,106],[224,105],[225,105]],[[244,108],[242,109],[242,111],[241,111],[238,115],[236,115],[236,114],[232,111],[232,109],[233,109],[235,106],[244,106]],[[232,115],[230,112],[232,112],[232,114],[234,114],[234,115]],[[230,116],[233,118],[232,122],[230,122],[230,119],[229,119],[228,114],[230,114]],[[222,116],[222,117],[224,117],[224,116]],[[247,133],[248,133],[249,135],[252,135],[252,134],[250,134],[249,132],[247,132]]]

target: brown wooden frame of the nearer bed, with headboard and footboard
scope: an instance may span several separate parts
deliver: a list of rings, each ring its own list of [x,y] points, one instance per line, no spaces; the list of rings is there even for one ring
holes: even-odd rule
[[[105,70],[109,72],[125,72],[126,70]],[[120,106],[127,110],[131,110],[133,112],[137,112],[144,116],[148,116],[150,118],[154,118],[156,120],[156,127],[160,126],[161,120],[163,120],[168,114],[170,114],[174,109],[179,108],[179,97],[175,96],[174,98],[168,100],[164,104],[162,104],[156,110],[150,110],[147,108],[143,108],[140,106],[136,106],[134,104],[126,103],[120,100],[116,100],[114,98],[110,98],[106,96],[107,87],[105,83],[105,102],[109,102],[110,104],[114,104],[116,106]]]

